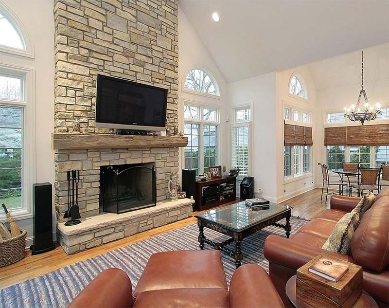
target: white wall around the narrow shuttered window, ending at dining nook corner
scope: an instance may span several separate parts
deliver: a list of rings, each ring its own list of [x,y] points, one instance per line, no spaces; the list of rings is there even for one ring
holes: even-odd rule
[[[234,106],[253,104],[249,175],[254,192],[261,188],[265,198],[276,201],[276,72],[229,83],[228,93],[230,119]],[[230,165],[230,147],[228,153]]]

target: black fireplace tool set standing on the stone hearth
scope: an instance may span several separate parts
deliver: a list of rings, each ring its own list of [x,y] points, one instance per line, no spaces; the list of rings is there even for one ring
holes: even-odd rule
[[[65,222],[65,226],[73,226],[81,223],[79,218],[80,208],[78,207],[78,183],[80,182],[80,170],[68,171],[68,210],[64,218],[71,218]]]

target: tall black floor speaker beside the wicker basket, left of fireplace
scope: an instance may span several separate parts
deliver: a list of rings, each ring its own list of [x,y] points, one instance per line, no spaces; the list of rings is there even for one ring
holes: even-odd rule
[[[55,248],[53,244],[52,184],[33,184],[34,245],[31,254],[42,254]]]

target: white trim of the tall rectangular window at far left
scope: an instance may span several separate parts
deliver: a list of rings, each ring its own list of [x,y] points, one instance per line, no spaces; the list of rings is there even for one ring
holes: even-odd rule
[[[23,145],[22,145],[22,205],[13,209],[15,220],[33,217],[32,184],[36,182],[36,129],[35,129],[35,70],[29,67],[0,63],[0,70],[6,75],[23,79],[22,100],[0,99],[0,104],[10,107],[23,107]],[[0,214],[0,221],[6,221],[5,214]]]

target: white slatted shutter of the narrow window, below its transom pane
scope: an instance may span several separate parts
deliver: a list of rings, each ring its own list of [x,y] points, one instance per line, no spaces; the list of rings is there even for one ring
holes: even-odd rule
[[[239,175],[248,176],[248,125],[231,127],[231,166],[239,167]]]

